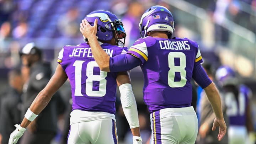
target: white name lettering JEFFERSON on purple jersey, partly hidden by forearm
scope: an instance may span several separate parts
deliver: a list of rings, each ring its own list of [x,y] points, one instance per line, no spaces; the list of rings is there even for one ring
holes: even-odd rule
[[[110,57],[113,55],[113,49],[103,49]],[[72,54],[69,57],[87,57],[93,58],[91,48],[74,48]]]

